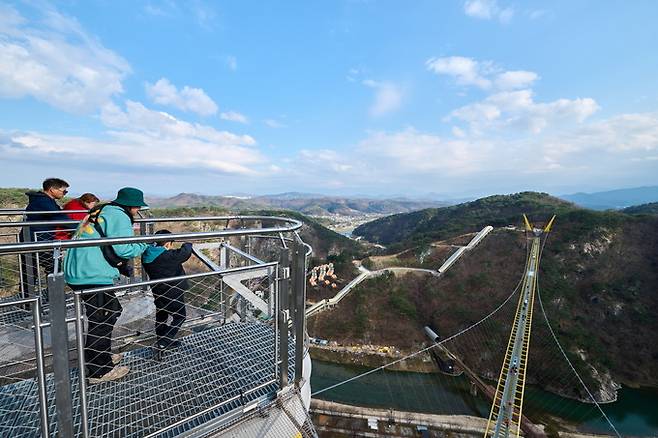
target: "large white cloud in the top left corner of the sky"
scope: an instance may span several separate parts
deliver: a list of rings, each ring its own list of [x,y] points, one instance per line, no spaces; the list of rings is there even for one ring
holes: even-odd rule
[[[0,97],[32,96],[56,108],[90,113],[123,92],[123,58],[73,18],[44,7],[28,22],[0,5]]]

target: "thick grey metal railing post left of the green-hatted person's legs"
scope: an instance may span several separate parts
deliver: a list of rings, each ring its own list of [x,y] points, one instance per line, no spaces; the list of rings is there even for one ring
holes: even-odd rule
[[[64,275],[48,276],[50,297],[50,334],[52,338],[53,375],[55,377],[55,406],[59,436],[73,437],[71,376],[69,374],[69,334],[66,324],[66,296]]]

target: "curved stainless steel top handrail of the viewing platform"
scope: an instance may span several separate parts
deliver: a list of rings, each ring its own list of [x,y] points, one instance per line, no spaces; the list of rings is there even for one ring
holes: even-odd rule
[[[133,236],[133,237],[111,237],[104,239],[81,239],[81,240],[61,240],[51,242],[35,242],[35,243],[9,243],[0,245],[0,254],[8,253],[28,253],[32,251],[45,251],[53,249],[65,248],[80,248],[87,246],[104,246],[104,245],[118,245],[126,243],[154,243],[154,242],[170,242],[172,240],[189,241],[199,239],[216,239],[220,237],[232,236],[245,236],[253,233],[272,234],[272,233],[289,233],[294,232],[302,227],[302,222],[296,219],[284,218],[279,216],[222,216],[222,217],[203,217],[203,218],[154,218],[157,222],[183,222],[188,220],[227,220],[227,219],[245,219],[245,220],[271,220],[286,224],[278,227],[268,228],[239,228],[228,229],[220,231],[206,231],[194,233],[178,233],[178,234],[152,234],[147,236]],[[140,222],[153,222],[151,219],[139,220]],[[56,224],[54,221],[47,224]],[[76,222],[77,223],[77,222]],[[39,222],[27,222],[26,225],[35,225]],[[0,224],[3,225],[3,224]]]

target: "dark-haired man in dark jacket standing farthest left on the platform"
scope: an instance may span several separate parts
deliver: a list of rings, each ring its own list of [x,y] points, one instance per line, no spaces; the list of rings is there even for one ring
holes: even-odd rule
[[[69,184],[63,179],[48,178],[42,184],[43,190],[39,192],[27,192],[28,204],[25,211],[61,211],[57,204],[59,199],[68,193]],[[64,213],[44,213],[26,215],[28,222],[43,221],[68,221],[70,218]],[[29,227],[30,240],[42,242],[55,239],[56,225],[33,225]],[[46,251],[39,253],[39,265],[43,267],[46,274],[50,274],[55,269],[52,252]],[[37,277],[37,267],[33,267],[35,277]]]

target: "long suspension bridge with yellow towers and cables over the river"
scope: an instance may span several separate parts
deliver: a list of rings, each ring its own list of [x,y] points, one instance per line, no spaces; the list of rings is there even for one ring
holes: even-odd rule
[[[565,373],[569,373],[568,378],[563,378],[562,387],[579,386],[577,391],[579,394],[584,394],[580,398],[589,403],[590,407],[587,409],[587,415],[600,416],[601,420],[607,423],[610,434],[621,436],[614,424],[610,421],[608,416],[602,409],[599,400],[593,395],[587,387],[583,378],[578,374],[576,368],[571,363],[568,355],[560,345],[553,329],[549,323],[545,309],[540,300],[538,277],[540,269],[540,260],[542,250],[546,244],[546,239],[551,232],[555,216],[553,216],[543,227],[534,226],[530,220],[524,215],[524,229],[527,239],[527,254],[525,259],[525,266],[523,274],[519,283],[516,285],[512,293],[507,296],[502,303],[500,303],[494,310],[484,316],[482,319],[468,325],[457,333],[441,339],[431,329],[426,328],[428,335],[432,339],[432,344],[428,347],[422,348],[404,357],[386,363],[377,368],[370,369],[361,374],[352,376],[342,381],[333,383],[324,388],[314,388],[312,393],[314,398],[320,397],[325,400],[331,400],[332,392],[343,385],[357,385],[360,380],[366,380],[372,385],[373,380],[368,380],[375,375],[382,375],[385,385],[390,387],[397,387],[395,380],[399,376],[392,370],[406,368],[404,364],[417,359],[430,350],[440,347],[456,362],[456,367],[465,372],[471,382],[472,388],[478,388],[480,393],[485,396],[489,402],[488,417],[486,418],[486,426],[483,428],[484,437],[518,437],[518,436],[546,436],[543,427],[535,424],[532,418],[539,418],[537,406],[533,406],[530,417],[524,413],[524,401],[528,399],[528,369],[533,366],[540,365],[539,363],[531,363],[530,345],[531,334],[533,329],[533,319],[536,319],[535,304],[540,302],[541,318],[541,338],[537,342],[538,350],[551,347],[554,353],[550,359],[551,366],[555,368],[565,369]],[[518,295],[515,307],[512,308],[511,304],[514,302],[513,298]],[[511,320],[511,329],[509,336],[506,339],[506,348],[500,349],[502,337],[496,338],[498,345],[492,342],[495,329],[504,323],[505,320]],[[537,322],[535,325],[538,324]],[[509,326],[509,324],[507,324]],[[496,380],[493,376],[482,377],[476,370],[479,368],[477,362],[485,356],[496,356],[495,351],[489,352],[491,348],[499,350],[502,354],[501,361],[499,362],[500,373]],[[560,363],[561,362],[561,363]],[[566,367],[565,367],[566,365]],[[386,374],[388,371],[388,374]],[[443,378],[444,381],[446,378]],[[450,379],[448,377],[447,379]],[[391,381],[393,383],[391,383]],[[437,379],[438,385],[441,379]],[[491,383],[489,383],[491,382]],[[492,383],[494,383],[492,385]],[[555,384],[550,381],[539,382],[535,378],[533,383],[544,383],[546,386],[556,389]],[[364,385],[365,386],[365,385]],[[360,388],[364,388],[361,386]],[[403,388],[401,388],[404,390]],[[557,388],[561,389],[561,388]],[[564,392],[567,392],[566,390]],[[393,391],[395,393],[395,391]],[[415,395],[415,398],[422,399],[423,395]],[[532,396],[530,397],[533,398]],[[535,397],[536,398],[536,397]],[[426,397],[428,403],[433,402],[433,397],[430,394]],[[436,398],[434,398],[436,400]],[[454,403],[454,400],[453,400]],[[536,400],[531,400],[531,404],[537,405]],[[561,409],[561,408],[558,408]],[[566,409],[566,408],[565,408]],[[555,410],[555,409],[554,409]],[[448,410],[449,411],[449,410]],[[595,411],[595,412],[593,412]],[[541,418],[540,418],[541,419]]]

